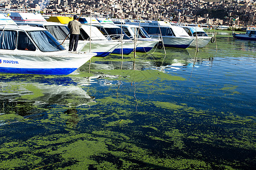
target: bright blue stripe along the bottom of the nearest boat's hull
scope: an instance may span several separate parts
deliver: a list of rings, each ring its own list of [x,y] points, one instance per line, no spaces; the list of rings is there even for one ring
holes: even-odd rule
[[[0,67],[0,73],[10,74],[44,74],[44,75],[68,75],[75,71],[75,68],[63,69],[20,69],[10,67]]]

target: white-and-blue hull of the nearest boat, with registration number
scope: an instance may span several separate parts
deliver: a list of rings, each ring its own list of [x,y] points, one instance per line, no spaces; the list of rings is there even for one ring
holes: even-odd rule
[[[67,75],[95,55],[95,53],[82,54],[66,50],[61,53],[45,54],[27,51],[23,51],[22,54],[11,54],[6,50],[0,50],[0,73]]]

